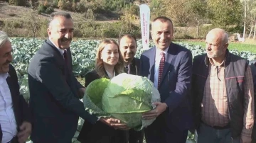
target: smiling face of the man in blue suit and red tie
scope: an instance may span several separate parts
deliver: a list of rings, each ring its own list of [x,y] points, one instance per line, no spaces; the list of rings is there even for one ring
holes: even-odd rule
[[[173,28],[170,21],[158,19],[152,23],[151,37],[159,50],[166,50],[173,38]]]

